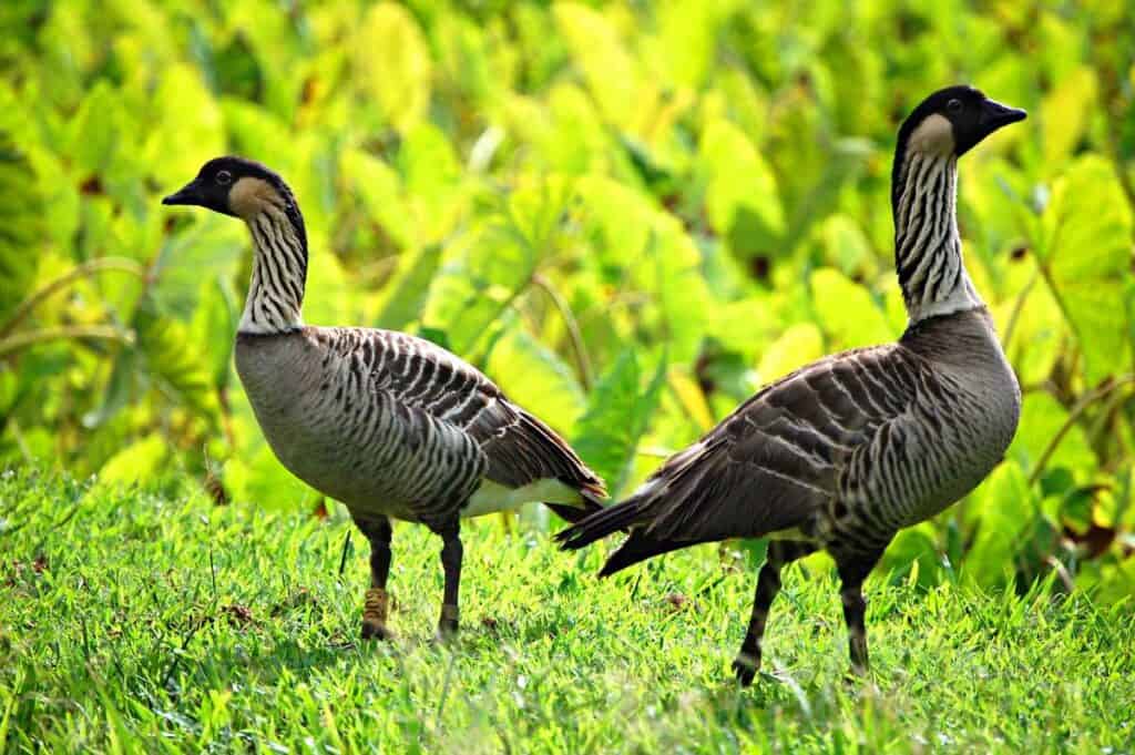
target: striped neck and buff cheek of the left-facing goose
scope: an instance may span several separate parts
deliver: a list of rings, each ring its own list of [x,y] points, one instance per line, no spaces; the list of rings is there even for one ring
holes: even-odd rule
[[[308,238],[291,192],[260,178],[241,178],[230,204],[247,224],[254,249],[238,332],[267,335],[302,328]]]

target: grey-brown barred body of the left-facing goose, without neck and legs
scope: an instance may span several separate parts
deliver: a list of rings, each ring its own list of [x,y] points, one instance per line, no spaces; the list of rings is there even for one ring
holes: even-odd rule
[[[603,495],[558,436],[428,341],[303,327],[238,334],[235,354],[280,462],[359,517],[431,525]]]

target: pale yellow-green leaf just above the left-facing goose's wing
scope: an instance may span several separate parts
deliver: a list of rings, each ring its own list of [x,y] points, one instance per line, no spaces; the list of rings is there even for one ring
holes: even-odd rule
[[[512,401],[564,436],[572,434],[587,405],[571,368],[515,326],[494,345],[486,371]]]

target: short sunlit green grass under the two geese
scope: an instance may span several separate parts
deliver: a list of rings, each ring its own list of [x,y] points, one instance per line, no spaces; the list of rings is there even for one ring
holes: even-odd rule
[[[813,561],[785,572],[772,673],[740,690],[745,556],[693,548],[599,582],[602,548],[568,556],[490,517],[464,529],[456,646],[430,641],[440,543],[413,526],[395,527],[400,639],[360,645],[365,547],[340,574],[346,521],[191,489],[0,480],[0,749],[1118,753],[1135,737],[1129,604],[876,576],[874,673],[851,686]]]

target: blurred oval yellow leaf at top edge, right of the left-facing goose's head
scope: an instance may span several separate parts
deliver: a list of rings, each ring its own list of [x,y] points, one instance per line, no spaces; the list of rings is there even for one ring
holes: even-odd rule
[[[355,78],[382,117],[407,131],[426,116],[432,65],[414,17],[402,5],[370,8],[354,35]]]

